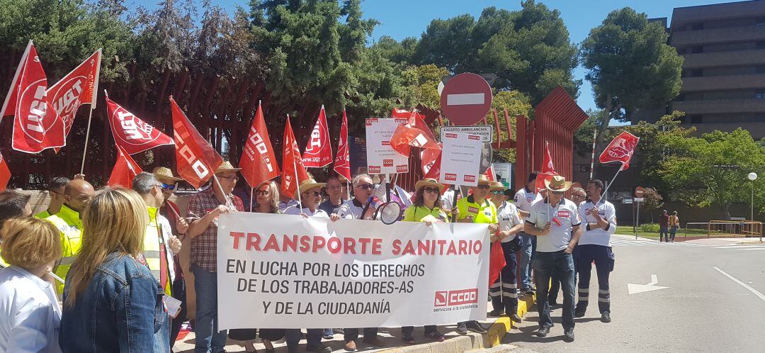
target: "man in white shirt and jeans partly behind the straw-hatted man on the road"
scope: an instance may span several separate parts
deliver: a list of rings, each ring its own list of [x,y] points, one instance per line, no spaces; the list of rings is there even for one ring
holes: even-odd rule
[[[542,194],[536,192],[536,175],[537,172],[529,174],[529,179],[526,181],[526,187],[521,188],[516,192],[516,207],[523,220],[526,220],[526,218],[529,217],[529,211],[531,211],[532,204],[542,200]],[[524,231],[521,231],[519,236],[521,238],[521,293],[526,294],[527,296],[532,296],[534,293],[531,289],[531,270],[534,265],[536,253],[536,237],[532,237]]]

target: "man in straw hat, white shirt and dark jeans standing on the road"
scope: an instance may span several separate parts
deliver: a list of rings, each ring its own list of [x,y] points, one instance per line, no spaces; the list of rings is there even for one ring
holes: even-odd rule
[[[524,224],[526,234],[537,239],[534,272],[539,331],[536,335],[545,337],[552,328],[548,286],[550,277],[555,276],[563,287],[563,339],[573,342],[574,260],[571,252],[581,236],[581,221],[576,204],[563,198],[563,193],[571,188],[571,181],[555,175],[551,180],[545,180],[545,188],[548,190],[547,200],[532,206]]]

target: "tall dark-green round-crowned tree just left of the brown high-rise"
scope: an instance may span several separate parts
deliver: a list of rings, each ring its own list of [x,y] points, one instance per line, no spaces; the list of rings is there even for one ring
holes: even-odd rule
[[[597,106],[607,115],[597,143],[611,119],[629,119],[636,109],[665,106],[680,92],[682,57],[667,45],[666,29],[632,8],[610,12],[581,44]]]

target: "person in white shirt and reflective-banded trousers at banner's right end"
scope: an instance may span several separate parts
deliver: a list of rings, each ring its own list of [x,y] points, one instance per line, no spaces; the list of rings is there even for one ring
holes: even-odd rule
[[[505,266],[502,268],[500,278],[496,279],[489,288],[491,304],[493,310],[492,316],[502,315],[504,311],[514,322],[521,322],[518,315],[518,285],[516,283],[516,251],[520,248],[520,238],[517,234],[523,230],[523,221],[516,205],[505,201],[505,187],[502,183],[494,181],[489,188],[491,201],[496,206],[496,220],[499,222],[500,229],[496,235],[491,236],[492,247],[502,246],[505,254]],[[500,240],[500,244],[496,243]]]

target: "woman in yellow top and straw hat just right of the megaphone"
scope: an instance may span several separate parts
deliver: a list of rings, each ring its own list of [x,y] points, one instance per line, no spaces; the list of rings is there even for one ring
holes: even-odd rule
[[[424,222],[431,225],[433,222],[448,222],[449,217],[442,208],[441,192],[446,185],[443,185],[433,178],[425,178],[417,181],[415,184],[415,197],[412,206],[404,211],[403,221]],[[414,326],[405,326],[401,328],[401,339],[408,345],[415,344],[415,338],[412,332]],[[425,326],[425,337],[431,338],[435,342],[443,342],[444,335],[438,332],[436,325]]]

